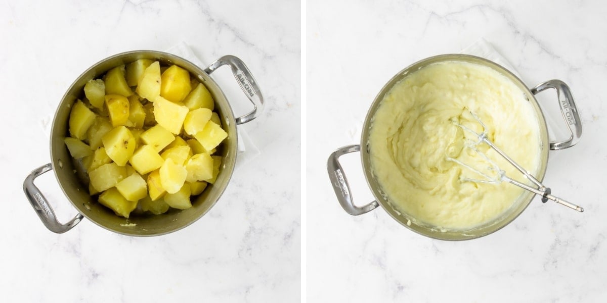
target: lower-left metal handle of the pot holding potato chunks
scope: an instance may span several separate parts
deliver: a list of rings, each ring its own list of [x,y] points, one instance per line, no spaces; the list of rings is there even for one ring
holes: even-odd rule
[[[76,215],[66,224],[61,224],[59,221],[57,221],[55,211],[53,211],[53,208],[50,207],[49,202],[47,202],[46,198],[44,198],[42,192],[34,184],[34,180],[38,178],[38,176],[52,169],[53,167],[49,163],[33,170],[32,173],[25,178],[25,181],[23,181],[23,191],[27,199],[30,201],[30,204],[32,204],[32,207],[40,217],[42,223],[46,225],[46,228],[49,228],[49,230],[53,233],[64,233],[75,227],[76,224],[80,223],[83,215],[78,213],[78,215]]]

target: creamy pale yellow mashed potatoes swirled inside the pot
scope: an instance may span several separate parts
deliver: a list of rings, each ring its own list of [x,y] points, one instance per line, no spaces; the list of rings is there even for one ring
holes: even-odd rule
[[[385,196],[401,213],[439,228],[467,230],[497,218],[519,201],[523,190],[507,182],[483,184],[458,159],[488,174],[489,166],[466,147],[478,139],[457,124],[488,138],[536,175],[540,128],[524,93],[492,68],[468,62],[430,64],[410,73],[384,96],[368,138],[371,170]],[[467,142],[467,143],[466,143]],[[476,145],[507,176],[524,176],[486,144]]]

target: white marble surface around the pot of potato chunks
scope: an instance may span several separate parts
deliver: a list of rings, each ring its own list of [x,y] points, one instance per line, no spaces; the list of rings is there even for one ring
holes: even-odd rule
[[[296,302],[300,298],[299,1],[2,1],[2,302]],[[214,208],[166,236],[130,238],[84,220],[55,235],[21,184],[49,162],[55,108],[76,76],[115,53],[185,41],[207,64],[239,56],[267,102],[243,125],[260,155]],[[250,103],[229,68],[214,78],[236,115]],[[52,173],[39,186],[66,221]],[[294,186],[296,184],[297,186]]]

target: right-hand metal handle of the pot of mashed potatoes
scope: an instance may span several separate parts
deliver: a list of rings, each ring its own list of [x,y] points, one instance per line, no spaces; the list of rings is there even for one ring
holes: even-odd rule
[[[536,85],[534,88],[531,88],[531,92],[534,95],[537,95],[548,88],[554,88],[557,90],[558,105],[561,107],[563,119],[565,119],[569,133],[571,133],[569,139],[566,139],[565,141],[550,142],[550,149],[563,150],[565,148],[572,147],[573,145],[577,144],[578,141],[580,141],[580,137],[582,136],[582,119],[580,119],[577,107],[573,101],[571,90],[567,84],[565,84],[565,82],[556,79],[548,80]]]

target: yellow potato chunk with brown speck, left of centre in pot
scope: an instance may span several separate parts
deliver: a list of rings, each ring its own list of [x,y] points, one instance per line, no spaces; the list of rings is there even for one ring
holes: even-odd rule
[[[122,125],[110,130],[101,141],[103,141],[103,147],[106,148],[107,156],[120,166],[124,166],[135,151],[133,134]]]

